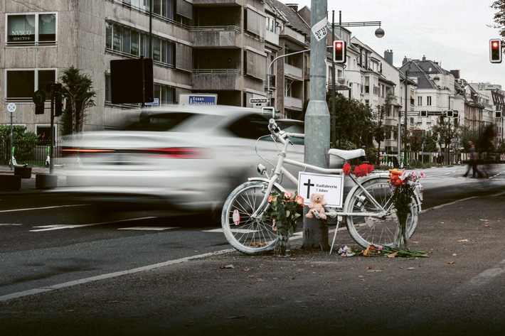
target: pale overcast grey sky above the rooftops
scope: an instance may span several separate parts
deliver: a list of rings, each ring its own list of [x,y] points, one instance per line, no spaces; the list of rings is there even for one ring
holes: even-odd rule
[[[280,0],[284,4],[311,7],[311,0]],[[386,31],[376,38],[377,27],[351,27],[353,35],[379,55],[393,50],[393,63],[403,57],[439,62],[445,70],[460,70],[468,82],[490,82],[505,89],[504,63],[489,62],[489,39],[498,38],[493,0],[327,0],[328,18],[335,21],[381,21]],[[505,55],[504,55],[505,57]]]

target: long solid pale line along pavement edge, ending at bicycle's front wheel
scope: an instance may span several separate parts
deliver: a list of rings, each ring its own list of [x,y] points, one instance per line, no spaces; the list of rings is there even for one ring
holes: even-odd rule
[[[53,286],[47,286],[47,287],[41,287],[41,288],[33,288],[33,289],[28,289],[28,291],[22,291],[18,293],[11,293],[7,294],[4,296],[0,296],[0,302],[4,302],[7,300],[11,300],[13,298],[21,298],[23,296],[31,296],[33,294],[38,294],[38,293],[45,293],[48,291],[55,291],[57,289],[61,288],[66,288],[66,287],[71,287],[75,285],[80,285],[83,283],[89,283],[92,281],[97,281],[97,280],[105,280],[109,278],[115,278],[117,276],[124,276],[127,274],[133,274],[133,273],[139,273],[139,272],[144,272],[144,271],[150,271],[151,269],[159,269],[161,267],[165,266],[171,266],[174,264],[181,264],[186,261],[191,261],[193,259],[201,259],[201,258],[206,258],[208,256],[217,256],[219,254],[226,254],[235,251],[235,249],[223,249],[220,251],[216,252],[209,252],[209,253],[204,253],[204,254],[197,254],[196,256],[186,256],[185,258],[181,259],[175,259],[175,260],[169,260],[165,261],[159,264],[153,264],[153,265],[148,265],[148,266],[142,266],[142,267],[137,267],[137,269],[129,269],[127,271],[118,271],[114,273],[107,273],[107,274],[102,274],[100,276],[91,276],[90,278],[83,278],[83,279],[78,279],[75,281],[68,281],[65,283],[58,283]]]

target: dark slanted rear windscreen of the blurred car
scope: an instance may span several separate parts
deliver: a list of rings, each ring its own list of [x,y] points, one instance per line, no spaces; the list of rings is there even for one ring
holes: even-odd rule
[[[122,128],[123,131],[169,131],[195,114],[174,112],[161,114],[141,114],[139,121]]]

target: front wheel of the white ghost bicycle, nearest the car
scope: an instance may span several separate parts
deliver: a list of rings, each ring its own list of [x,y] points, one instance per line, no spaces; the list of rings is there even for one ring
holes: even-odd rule
[[[261,205],[268,183],[248,181],[239,185],[228,196],[223,206],[221,226],[228,242],[244,254],[259,254],[273,249],[277,232],[272,229],[272,221],[262,220],[262,209],[254,215]],[[280,193],[277,187],[273,193]],[[268,203],[265,205],[265,208]]]

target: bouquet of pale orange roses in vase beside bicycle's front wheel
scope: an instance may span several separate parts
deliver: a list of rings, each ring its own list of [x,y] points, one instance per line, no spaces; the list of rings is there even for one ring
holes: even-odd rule
[[[262,220],[272,220],[272,230],[277,232],[275,255],[289,256],[289,237],[297,229],[297,220],[302,216],[304,198],[297,193],[272,193],[268,196],[269,207],[263,212]]]

